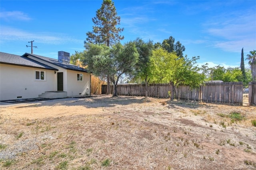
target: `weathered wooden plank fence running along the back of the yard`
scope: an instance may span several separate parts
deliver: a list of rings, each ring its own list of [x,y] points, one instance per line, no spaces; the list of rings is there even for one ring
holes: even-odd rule
[[[148,96],[156,98],[170,98],[171,84],[149,84]],[[250,90],[252,89],[252,90]],[[120,96],[145,96],[145,84],[118,84],[117,94]],[[114,88],[111,86],[110,93]],[[102,85],[102,94],[106,94],[106,85]],[[209,103],[243,103],[242,82],[210,82],[199,89],[190,89],[190,86],[178,86],[174,98],[181,100],[200,100]],[[254,96],[252,97],[252,94]],[[249,84],[249,102],[256,104],[256,82]]]

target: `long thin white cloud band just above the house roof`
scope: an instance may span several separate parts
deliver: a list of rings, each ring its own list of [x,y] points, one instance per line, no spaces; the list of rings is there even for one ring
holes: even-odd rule
[[[81,43],[83,40],[74,39],[69,37],[68,35],[64,35],[61,33],[46,33],[46,32],[38,32],[31,33],[28,31],[22,31],[20,29],[15,29],[12,27],[1,27],[0,32],[0,43],[4,43],[6,41],[30,41],[35,40],[38,43],[45,44],[65,44],[65,43]]]

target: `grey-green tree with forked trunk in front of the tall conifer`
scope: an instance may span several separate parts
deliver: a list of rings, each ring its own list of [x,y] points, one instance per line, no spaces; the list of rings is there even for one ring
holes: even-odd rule
[[[123,74],[134,71],[138,61],[138,52],[135,43],[129,42],[124,45],[116,43],[112,47],[87,43],[84,64],[88,70],[96,76],[110,75],[114,84],[114,94],[117,96],[117,84]]]

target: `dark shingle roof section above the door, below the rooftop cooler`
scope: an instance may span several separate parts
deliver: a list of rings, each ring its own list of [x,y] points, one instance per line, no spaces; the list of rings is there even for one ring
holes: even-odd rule
[[[67,70],[75,70],[75,71],[80,71],[80,72],[88,72],[88,70],[86,70],[86,69],[84,69],[82,67],[78,67],[78,66],[73,65],[73,64],[60,63],[60,62],[58,62],[58,59],[52,59],[52,58],[49,58],[49,57],[44,57],[44,56],[30,54],[30,53],[25,53],[24,55],[22,55],[22,57],[28,57],[29,55],[32,56],[32,57],[36,57],[38,59],[41,59],[43,61],[46,61],[48,63],[54,64],[56,66],[59,66],[61,68],[65,68]]]

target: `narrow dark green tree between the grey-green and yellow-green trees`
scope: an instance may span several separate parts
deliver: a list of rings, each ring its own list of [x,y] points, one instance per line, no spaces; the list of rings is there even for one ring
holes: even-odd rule
[[[145,82],[146,92],[145,96],[148,97],[148,82],[151,74],[150,58],[152,57],[152,50],[154,48],[152,41],[144,42],[142,39],[137,38],[134,41],[136,49],[139,53],[138,63],[136,63],[135,78]]]

